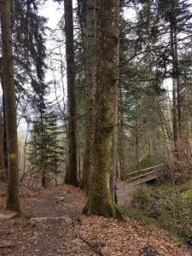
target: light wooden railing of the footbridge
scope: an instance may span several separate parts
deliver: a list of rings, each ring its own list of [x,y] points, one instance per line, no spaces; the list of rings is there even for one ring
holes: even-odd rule
[[[158,165],[158,166],[152,166],[152,167],[148,167],[146,169],[143,170],[138,170],[135,172],[129,172],[126,174],[126,180],[128,182],[133,182],[136,181],[140,178],[143,177],[148,177],[151,175],[159,175],[162,172],[162,167],[164,166],[164,164]]]

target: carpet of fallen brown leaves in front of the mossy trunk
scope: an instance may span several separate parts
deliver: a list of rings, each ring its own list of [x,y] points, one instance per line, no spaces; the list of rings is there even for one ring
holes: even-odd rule
[[[102,252],[105,255],[192,255],[189,248],[177,247],[166,231],[148,230],[130,218],[127,218],[127,222],[98,216],[81,218],[79,236],[92,242],[104,242],[106,246]]]

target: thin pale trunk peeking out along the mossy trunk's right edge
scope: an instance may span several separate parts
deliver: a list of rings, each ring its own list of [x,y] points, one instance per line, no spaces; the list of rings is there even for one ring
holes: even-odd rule
[[[110,191],[114,200],[114,183],[115,177],[117,176],[117,140],[118,140],[118,88],[119,88],[119,0],[116,0],[115,3],[115,34],[118,38],[118,43],[116,46],[115,52],[115,64],[116,64],[116,79],[113,89],[113,130],[112,130],[112,170],[110,175]]]

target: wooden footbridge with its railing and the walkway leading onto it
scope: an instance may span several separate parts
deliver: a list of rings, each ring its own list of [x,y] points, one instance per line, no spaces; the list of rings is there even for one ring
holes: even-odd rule
[[[127,173],[125,181],[117,184],[119,187],[119,190],[117,190],[118,204],[129,205],[132,189],[138,184],[147,183],[163,176],[165,173],[164,166],[164,164],[161,164],[136,172]]]

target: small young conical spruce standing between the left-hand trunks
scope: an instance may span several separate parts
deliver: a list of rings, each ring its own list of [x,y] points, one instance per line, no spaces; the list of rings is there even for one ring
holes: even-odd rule
[[[33,123],[28,142],[28,160],[40,175],[42,187],[48,185],[50,173],[54,174],[56,184],[57,174],[61,172],[59,165],[63,161],[64,148],[59,140],[60,134],[55,115],[44,109]]]

